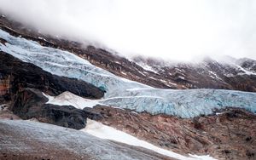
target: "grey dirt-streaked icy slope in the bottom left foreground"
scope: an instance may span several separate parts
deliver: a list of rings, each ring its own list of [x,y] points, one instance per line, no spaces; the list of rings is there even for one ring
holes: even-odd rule
[[[154,151],[48,123],[0,120],[0,159],[162,159]],[[11,155],[10,157],[7,157]],[[15,157],[13,157],[15,156]],[[23,157],[23,158],[22,158]]]

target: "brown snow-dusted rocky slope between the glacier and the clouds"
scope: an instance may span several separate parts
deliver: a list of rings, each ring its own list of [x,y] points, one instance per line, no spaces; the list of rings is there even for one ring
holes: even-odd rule
[[[166,63],[163,60],[143,57],[128,60],[113,51],[93,46],[84,47],[83,44],[64,37],[56,38],[38,33],[3,16],[0,17],[0,27],[15,37],[25,37],[44,46],[68,50],[119,77],[155,88],[256,91],[255,60],[235,60],[231,64],[211,59],[203,60],[200,64]]]

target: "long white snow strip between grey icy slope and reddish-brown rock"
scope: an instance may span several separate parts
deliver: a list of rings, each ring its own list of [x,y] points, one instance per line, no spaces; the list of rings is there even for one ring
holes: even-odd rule
[[[109,127],[107,125],[104,125],[102,123],[98,123],[96,121],[87,119],[87,124],[85,129],[81,129],[87,134],[94,135],[98,138],[101,139],[106,139],[106,140],[115,140],[121,143],[125,143],[127,145],[131,146],[141,146],[143,148],[147,148],[152,151],[156,151],[162,155],[166,155],[168,157],[174,157],[177,159],[182,159],[182,160],[195,160],[195,159],[205,159],[205,160],[210,160],[214,159],[209,156],[196,156],[196,155],[190,155],[190,157],[185,157],[183,155],[177,154],[173,151],[168,151],[165,149],[162,149],[158,146],[154,146],[144,140],[138,140],[136,137],[126,134],[125,132],[119,131],[117,129],[113,129],[112,127]]]

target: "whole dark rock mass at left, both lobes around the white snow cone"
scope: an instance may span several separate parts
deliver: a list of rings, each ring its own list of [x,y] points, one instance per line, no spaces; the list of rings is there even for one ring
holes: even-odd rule
[[[0,100],[10,102],[10,110],[22,119],[37,118],[44,123],[83,129],[87,114],[73,106],[45,104],[47,94],[72,92],[90,99],[101,98],[104,92],[90,83],[68,77],[58,77],[38,66],[22,62],[0,52]]]

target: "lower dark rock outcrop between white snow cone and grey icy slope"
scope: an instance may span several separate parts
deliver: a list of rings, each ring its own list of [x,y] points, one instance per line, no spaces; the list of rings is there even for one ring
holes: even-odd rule
[[[45,104],[46,97],[37,89],[24,89],[15,95],[10,110],[22,119],[37,118],[39,122],[51,123],[71,129],[84,129],[86,113],[73,106]]]

